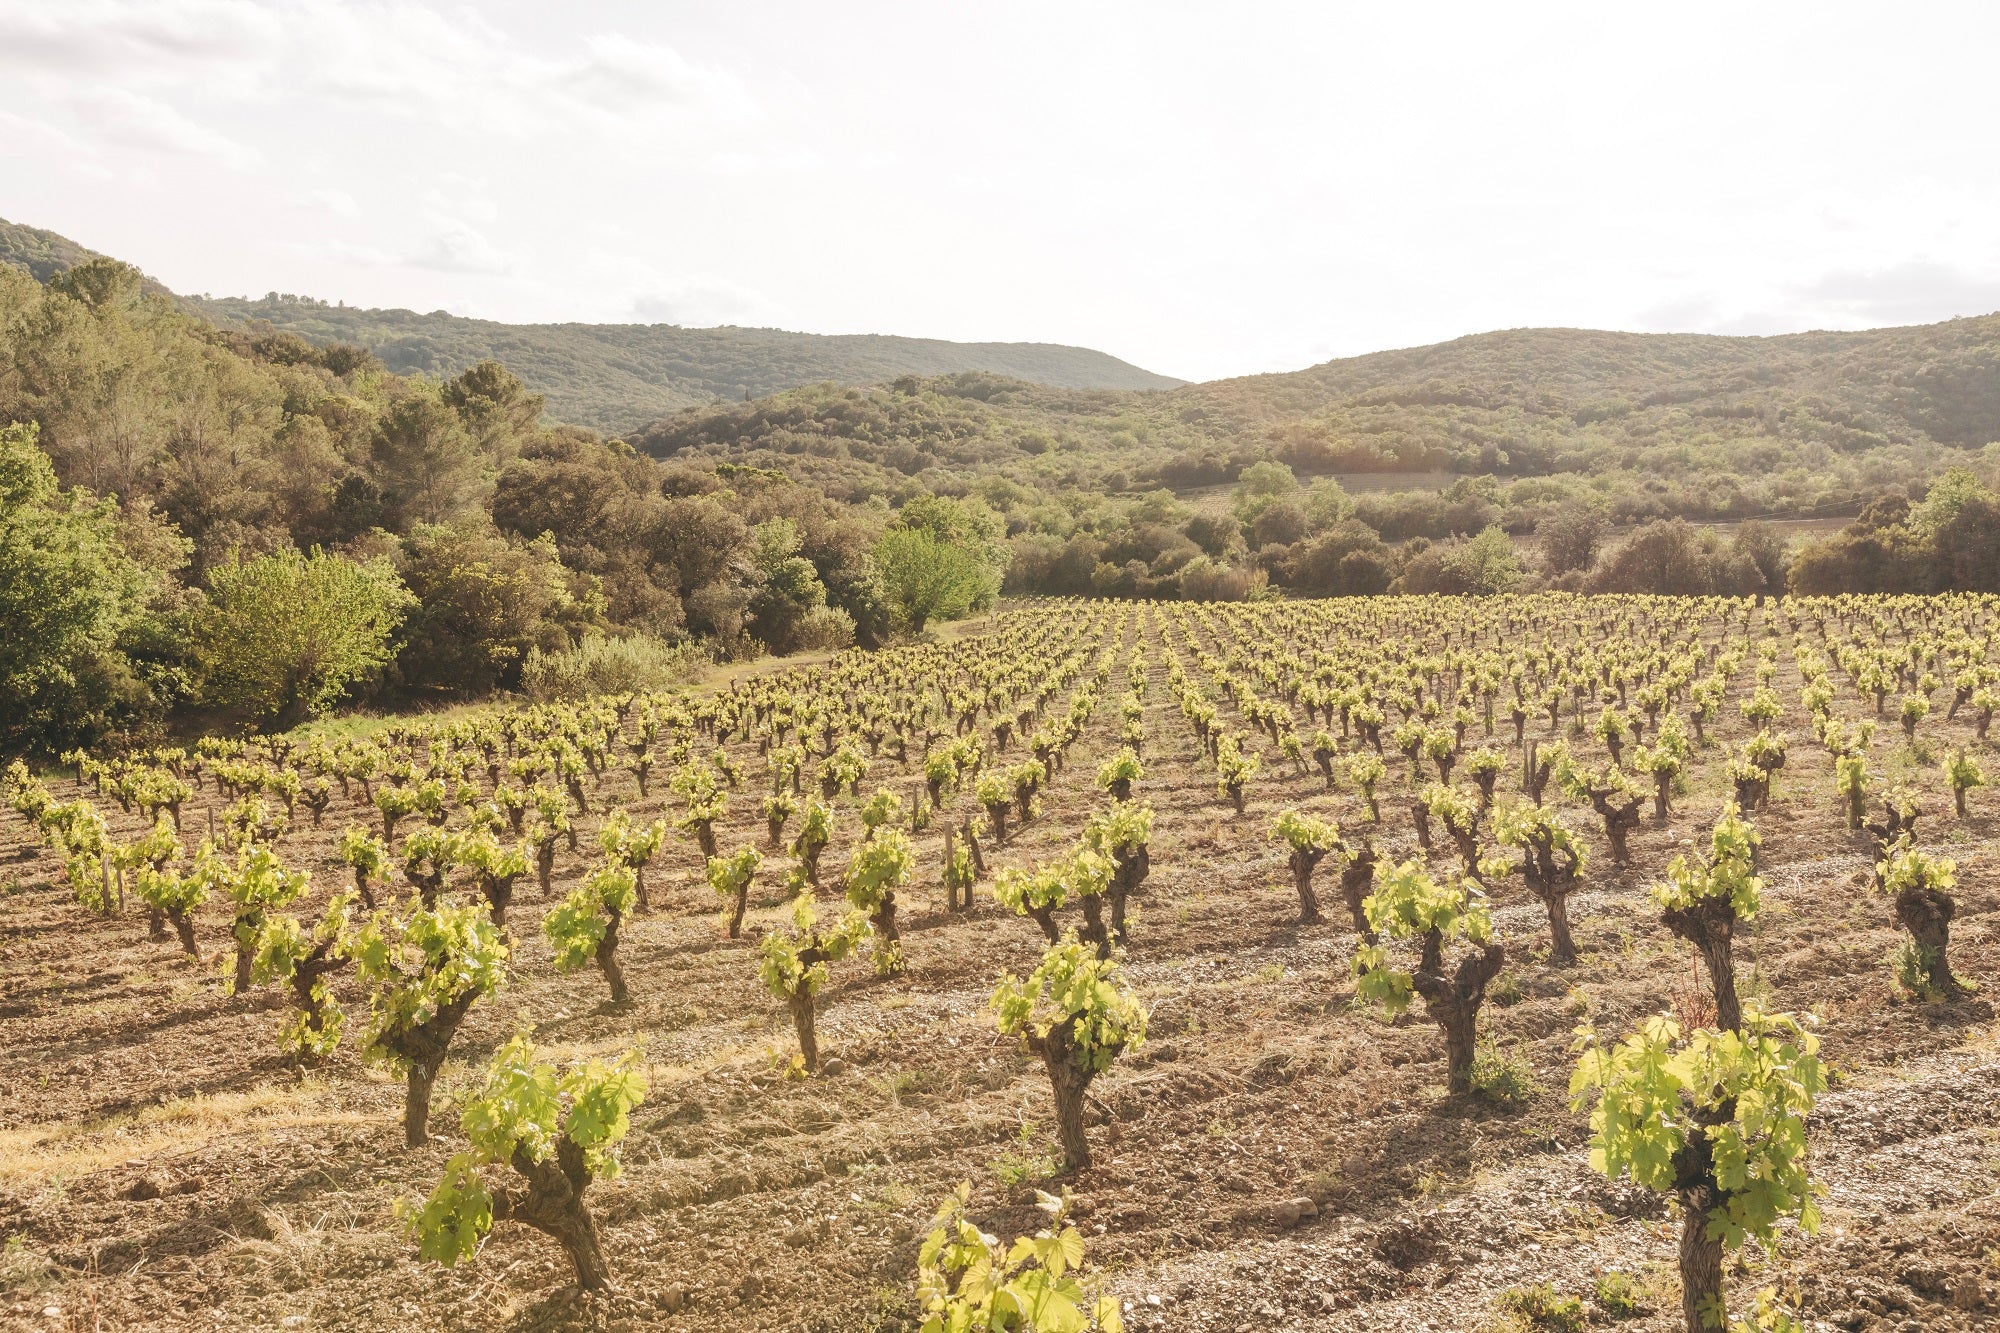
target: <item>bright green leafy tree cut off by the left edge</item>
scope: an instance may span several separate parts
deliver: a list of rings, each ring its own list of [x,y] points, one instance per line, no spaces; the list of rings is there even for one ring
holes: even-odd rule
[[[36,438],[0,426],[0,749],[54,753],[146,703],[120,638],[166,570],[126,552],[116,500],[56,484]]]

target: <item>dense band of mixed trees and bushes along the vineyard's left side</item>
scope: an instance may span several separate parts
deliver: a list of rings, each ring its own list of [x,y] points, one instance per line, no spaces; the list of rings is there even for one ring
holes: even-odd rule
[[[902,500],[662,464],[498,362],[220,330],[114,260],[0,266],[0,747],[636,689],[988,606],[1000,520]]]

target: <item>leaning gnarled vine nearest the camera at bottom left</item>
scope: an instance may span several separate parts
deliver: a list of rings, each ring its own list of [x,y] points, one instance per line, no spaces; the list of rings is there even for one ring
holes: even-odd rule
[[[458,1123],[470,1147],[444,1165],[422,1207],[398,1201],[418,1253],[446,1267],[478,1253],[494,1223],[518,1221],[556,1241],[584,1291],[610,1287],[596,1219],[584,1207],[594,1181],[618,1175],[618,1143],[646,1101],[638,1051],[582,1061],[558,1073],[516,1037],[500,1047]],[[520,1187],[488,1187],[480,1167],[504,1165]]]

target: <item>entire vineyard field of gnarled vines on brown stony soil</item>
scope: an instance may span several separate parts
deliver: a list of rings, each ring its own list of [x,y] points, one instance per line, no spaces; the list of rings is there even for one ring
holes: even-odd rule
[[[1994,1327],[1996,711],[1990,596],[1046,600],[16,763],[0,1313]]]

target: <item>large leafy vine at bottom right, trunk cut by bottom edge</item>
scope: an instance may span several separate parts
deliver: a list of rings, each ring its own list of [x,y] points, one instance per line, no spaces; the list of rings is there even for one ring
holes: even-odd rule
[[[1796,1217],[1818,1231],[1806,1175],[1806,1117],[1826,1091],[1816,1037],[1788,1015],[1752,1013],[1742,1031],[1650,1019],[1614,1047],[1584,1031],[1570,1095],[1590,1111],[1590,1165],[1680,1199],[1680,1311],[1686,1333],[1722,1329],[1722,1255],[1776,1241]]]

